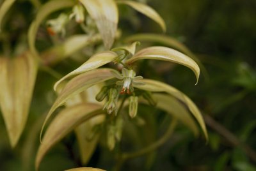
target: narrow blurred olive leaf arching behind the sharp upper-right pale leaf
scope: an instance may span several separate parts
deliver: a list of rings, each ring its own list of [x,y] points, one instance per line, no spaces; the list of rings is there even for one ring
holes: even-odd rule
[[[125,38],[126,42],[133,42],[133,41],[152,41],[154,43],[161,43],[161,45],[164,45],[166,47],[175,48],[175,50],[179,50],[180,52],[186,54],[187,56],[191,57],[197,64],[200,66],[200,70],[202,70],[203,75],[205,78],[209,77],[209,74],[207,73],[206,68],[204,67],[204,64],[200,62],[198,57],[189,50],[186,45],[181,43],[180,41],[176,40],[175,38],[172,38],[170,36],[161,35],[161,34],[134,34],[132,36],[129,36]]]

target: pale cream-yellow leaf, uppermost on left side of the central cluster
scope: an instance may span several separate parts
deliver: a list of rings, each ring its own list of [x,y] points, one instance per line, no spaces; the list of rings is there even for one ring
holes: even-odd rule
[[[86,71],[90,71],[95,68],[99,68],[100,66],[113,61],[115,59],[115,57],[117,57],[117,54],[115,54],[115,52],[111,52],[111,51],[100,52],[98,54],[93,55],[92,57],[90,57],[90,59],[88,59],[88,61],[83,63],[76,70],[68,73],[63,78],[58,80],[58,82],[56,82],[56,84],[54,84],[54,91],[56,91],[56,89],[58,88],[58,85],[63,80],[67,79],[68,77],[70,77],[72,75],[77,75],[79,73],[84,73]]]

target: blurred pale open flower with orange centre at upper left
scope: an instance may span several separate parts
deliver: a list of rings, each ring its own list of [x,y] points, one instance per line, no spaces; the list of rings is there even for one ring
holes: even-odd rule
[[[54,36],[55,34],[61,33],[65,35],[65,25],[68,22],[68,16],[65,13],[61,13],[58,18],[47,21],[47,31],[49,34]]]

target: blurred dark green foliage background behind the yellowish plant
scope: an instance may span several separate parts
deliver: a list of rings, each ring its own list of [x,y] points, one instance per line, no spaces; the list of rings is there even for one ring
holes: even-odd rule
[[[207,73],[201,74],[198,85],[193,86],[193,73],[182,66],[143,63],[140,71],[188,94],[205,116],[209,142],[205,144],[203,137],[193,137],[180,125],[156,152],[127,161],[121,170],[256,170],[256,1],[148,0],[147,3],[166,22],[166,35],[184,43],[196,54]],[[118,27],[124,37],[136,33],[161,34],[159,26],[147,17],[130,8],[120,6],[119,9]],[[18,1],[13,6],[8,15],[12,22],[6,26],[13,34],[10,46],[24,41],[20,35],[26,33],[33,14],[35,11],[28,1]],[[45,46],[48,45],[42,48]],[[72,70],[75,66],[76,61],[66,59],[54,69]],[[15,149],[8,144],[3,117],[0,117],[0,170],[33,170],[39,144],[37,131],[44,117],[39,118],[54,99],[52,84],[56,82],[44,71],[39,71],[38,78],[28,124]],[[141,113],[150,112],[147,107],[140,110],[143,110]],[[148,129],[153,130],[149,133],[164,129],[161,111],[157,111],[156,118],[157,121],[148,119],[152,122]],[[147,133],[147,128],[141,130],[141,134]],[[77,167],[73,160],[79,158],[76,143],[74,134],[68,135],[45,156],[40,170]],[[99,146],[88,165],[110,170],[110,165],[115,163],[112,158],[115,158],[113,153]]]

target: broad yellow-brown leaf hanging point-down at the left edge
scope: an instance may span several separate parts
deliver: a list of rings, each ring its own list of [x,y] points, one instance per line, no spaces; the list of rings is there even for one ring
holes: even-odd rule
[[[27,121],[37,63],[30,52],[13,59],[0,58],[0,106],[12,147]]]

